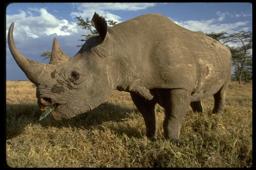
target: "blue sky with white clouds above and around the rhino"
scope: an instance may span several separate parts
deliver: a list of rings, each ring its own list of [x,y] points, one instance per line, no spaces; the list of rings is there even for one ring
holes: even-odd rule
[[[76,16],[94,12],[118,23],[147,13],[159,13],[191,31],[234,33],[252,31],[250,3],[13,3],[6,8],[6,34],[12,22],[14,41],[27,58],[42,61],[40,52],[51,51],[54,37],[66,55],[74,56],[81,35]],[[7,43],[7,41],[6,41]],[[6,46],[6,80],[28,80]]]

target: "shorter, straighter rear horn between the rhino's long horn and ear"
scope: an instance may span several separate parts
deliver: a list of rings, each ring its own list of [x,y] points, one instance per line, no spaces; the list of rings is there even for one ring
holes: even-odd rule
[[[52,54],[51,54],[51,60],[49,64],[63,64],[68,62],[70,58],[61,50],[58,41],[56,38],[53,40],[52,44]]]

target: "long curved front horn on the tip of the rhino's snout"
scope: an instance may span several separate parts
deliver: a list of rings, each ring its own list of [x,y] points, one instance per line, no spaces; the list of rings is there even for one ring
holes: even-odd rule
[[[35,85],[39,85],[38,78],[46,67],[46,64],[30,60],[19,52],[13,40],[13,27],[14,23],[11,24],[8,32],[8,45],[12,56],[21,70],[26,74],[27,78]]]

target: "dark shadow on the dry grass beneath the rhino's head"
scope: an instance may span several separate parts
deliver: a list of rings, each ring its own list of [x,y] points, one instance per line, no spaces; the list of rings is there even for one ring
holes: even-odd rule
[[[100,104],[97,108],[72,119],[53,121],[50,117],[46,117],[42,121],[39,121],[42,111],[38,110],[38,105],[24,104],[20,106],[6,104],[6,107],[12,110],[12,113],[7,113],[6,117],[6,140],[21,134],[24,128],[29,124],[40,124],[42,127],[83,127],[84,129],[90,129],[92,126],[101,125],[108,121],[120,122],[122,119],[129,118],[129,114],[132,112],[139,113],[136,108],[130,109],[122,107],[121,105],[105,102]],[[120,130],[121,128],[119,131]],[[125,131],[123,131],[123,133],[125,133]]]

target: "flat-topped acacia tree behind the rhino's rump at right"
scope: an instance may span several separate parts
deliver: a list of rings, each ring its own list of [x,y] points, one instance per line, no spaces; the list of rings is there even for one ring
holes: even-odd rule
[[[230,42],[239,45],[226,45],[232,53],[232,65],[235,68],[235,78],[241,84],[241,80],[245,83],[248,79],[252,79],[252,32],[239,31],[228,35],[225,32],[206,34],[209,37],[225,44]]]

